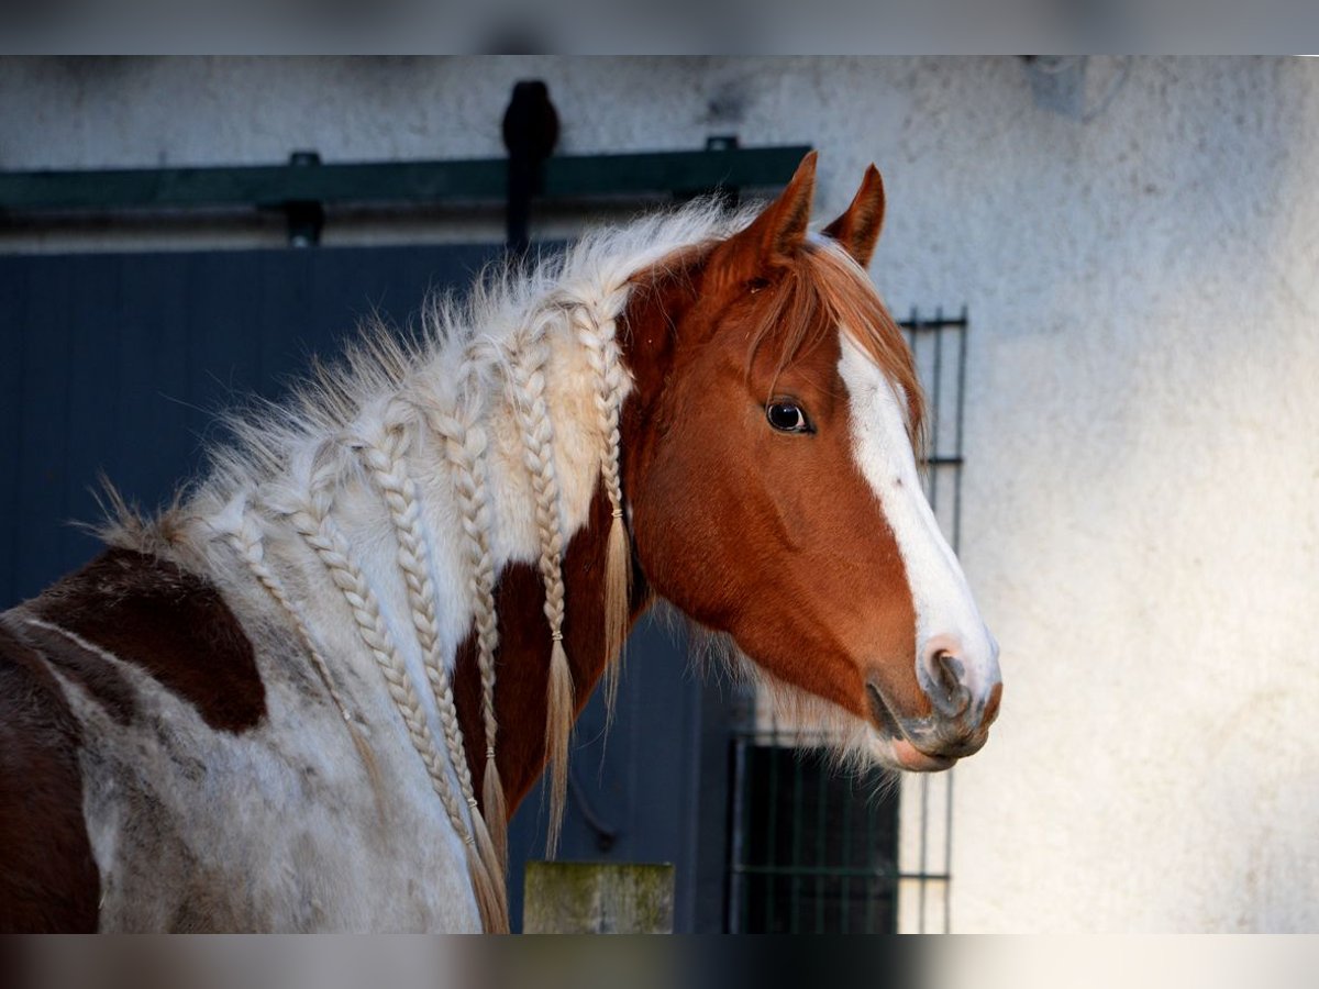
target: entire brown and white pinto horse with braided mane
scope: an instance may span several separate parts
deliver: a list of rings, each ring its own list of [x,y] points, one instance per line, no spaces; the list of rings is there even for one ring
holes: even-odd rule
[[[998,647],[922,494],[867,266],[696,200],[479,280],[240,417],[0,614],[0,927],[509,930],[509,814],[667,603],[847,758],[980,749]]]

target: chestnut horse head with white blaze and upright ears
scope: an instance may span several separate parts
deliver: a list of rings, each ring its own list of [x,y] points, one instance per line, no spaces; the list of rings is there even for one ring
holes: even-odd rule
[[[878,171],[818,236],[814,179],[813,153],[749,225],[638,281],[637,566],[871,761],[944,769],[985,742],[998,647],[922,492],[914,363],[865,273]]]

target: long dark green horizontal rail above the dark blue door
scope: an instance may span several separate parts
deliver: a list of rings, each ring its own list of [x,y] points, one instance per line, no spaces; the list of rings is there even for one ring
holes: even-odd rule
[[[683,195],[721,186],[781,186],[809,150],[807,145],[790,145],[554,157],[545,162],[541,198]],[[506,186],[505,158],[0,171],[0,211],[501,202]]]

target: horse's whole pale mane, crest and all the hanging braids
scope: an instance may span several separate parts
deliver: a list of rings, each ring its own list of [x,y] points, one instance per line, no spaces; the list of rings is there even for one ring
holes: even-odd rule
[[[557,844],[566,800],[566,765],[574,719],[574,687],[563,649],[565,585],[562,559],[571,534],[565,530],[562,494],[555,467],[555,431],[550,414],[545,368],[550,343],[572,349],[586,372],[588,405],[570,413],[586,415],[575,429],[600,434],[595,467],[580,458],[570,467],[599,471],[613,509],[607,570],[607,629],[621,646],[627,624],[627,574],[630,556],[623,524],[619,481],[617,418],[627,392],[615,338],[616,319],[627,306],[638,273],[662,277],[671,257],[694,245],[704,247],[749,222],[749,214],[729,211],[715,199],[653,214],[621,228],[587,235],[562,255],[530,265],[488,266],[466,297],[437,295],[421,313],[421,326],[398,335],[381,320],[359,330],[359,339],[342,359],[314,364],[311,377],[280,402],[253,401],[224,418],[232,440],[210,448],[208,473],[154,518],[144,517],[107,489],[111,521],[102,535],[111,545],[173,558],[208,570],[211,554],[237,554],[251,575],[285,613],[339,708],[364,762],[371,753],[360,738],[359,715],[336,688],[301,604],[286,592],[265,554],[272,525],[301,539],[344,593],[368,654],[384,674],[389,696],[455,833],[466,845],[468,872],[485,930],[506,930],[503,864],[506,862],[503,785],[495,762],[493,709],[495,579],[491,493],[485,488],[483,454],[488,447],[488,417],[510,410],[522,444],[524,467],[534,493],[534,531],[545,613],[551,630],[546,753],[551,769],[547,849]],[[595,413],[592,418],[591,409]],[[559,423],[562,425],[562,423]],[[571,430],[570,430],[571,431]],[[409,469],[415,436],[438,440],[438,455],[454,475],[462,512],[462,541],[472,579],[467,584],[480,647],[485,727],[485,774],[476,783],[463,752],[452,694],[454,657],[442,646],[435,609],[437,570],[421,521],[419,487]],[[576,477],[578,481],[583,477]],[[594,479],[590,479],[594,484]],[[394,628],[383,612],[357,549],[331,512],[340,493],[375,492],[388,510],[398,543],[397,567],[406,587],[412,620]],[[357,494],[360,498],[360,494]],[[282,520],[276,522],[276,520]],[[214,549],[212,549],[214,547]],[[200,567],[198,567],[200,564]],[[620,578],[621,575],[621,578]],[[621,585],[623,591],[619,591]],[[487,634],[489,633],[489,634]],[[400,636],[415,636],[426,679],[434,696],[442,738],[427,727],[427,716],[408,673]],[[609,637],[607,636],[607,644]],[[417,651],[409,650],[413,655]],[[616,655],[617,647],[608,650]],[[611,662],[607,686],[616,683]],[[609,694],[613,694],[612,686]],[[441,741],[443,742],[441,745]],[[441,750],[456,774],[456,791],[447,779]],[[470,814],[462,803],[466,802]],[[480,812],[484,803],[485,814]],[[489,823],[487,823],[489,818]],[[553,854],[553,851],[550,851]]]

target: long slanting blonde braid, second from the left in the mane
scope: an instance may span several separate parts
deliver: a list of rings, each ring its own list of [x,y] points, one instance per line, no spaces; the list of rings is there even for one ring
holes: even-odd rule
[[[422,765],[426,767],[431,789],[439,796],[455,833],[463,840],[467,870],[476,894],[476,906],[481,914],[481,926],[492,932],[504,931],[506,928],[500,924],[500,897],[493,889],[492,877],[476,853],[476,840],[468,831],[467,822],[463,820],[462,810],[450,789],[450,781],[445,773],[445,760],[435,748],[430,728],[426,724],[426,713],[422,711],[417,692],[413,690],[412,679],[408,676],[408,670],[389,636],[389,629],[385,625],[384,616],[380,613],[380,604],[376,600],[376,595],[367,583],[365,574],[353,562],[347,537],[344,537],[339,526],[330,517],[331,498],[326,493],[326,489],[331,483],[332,477],[330,476],[314,480],[310,497],[289,516],[289,521],[293,524],[294,530],[315,551],[330,572],[330,579],[335,587],[343,592],[353,621],[357,625],[357,633],[380,667],[380,673],[385,678],[385,686],[389,690],[389,696],[394,702],[404,725],[408,728],[408,737],[413,744],[413,749],[415,749]]]

